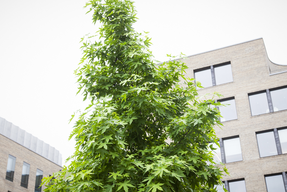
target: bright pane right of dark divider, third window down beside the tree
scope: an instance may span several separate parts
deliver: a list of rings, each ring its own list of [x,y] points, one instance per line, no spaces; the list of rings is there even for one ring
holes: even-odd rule
[[[226,163],[242,161],[242,152],[239,137],[223,140]]]

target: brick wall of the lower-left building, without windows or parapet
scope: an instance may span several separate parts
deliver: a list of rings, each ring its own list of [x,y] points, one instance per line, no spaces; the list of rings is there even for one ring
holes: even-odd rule
[[[5,179],[9,155],[16,157],[13,182]],[[20,186],[23,162],[30,164],[27,189]],[[0,192],[34,192],[37,169],[42,170],[43,177],[46,177],[59,171],[61,166],[0,134]],[[44,188],[42,186],[42,190]]]

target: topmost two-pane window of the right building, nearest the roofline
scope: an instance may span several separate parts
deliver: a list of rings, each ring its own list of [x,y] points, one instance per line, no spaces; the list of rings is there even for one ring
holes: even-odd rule
[[[197,69],[194,71],[194,78],[205,88],[233,82],[231,63],[226,62]]]

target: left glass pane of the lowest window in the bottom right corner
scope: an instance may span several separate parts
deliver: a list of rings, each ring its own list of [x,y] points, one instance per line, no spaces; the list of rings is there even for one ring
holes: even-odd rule
[[[268,192],[285,192],[282,175],[265,177],[265,181]]]

